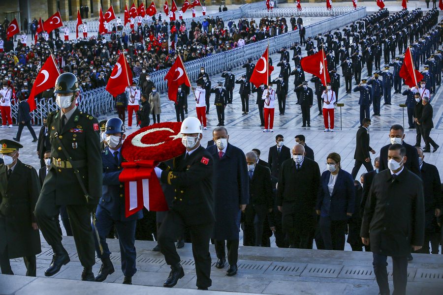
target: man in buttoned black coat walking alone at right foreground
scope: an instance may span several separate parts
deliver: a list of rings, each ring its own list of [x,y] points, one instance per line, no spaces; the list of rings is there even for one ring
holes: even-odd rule
[[[393,294],[406,294],[408,255],[411,254],[411,247],[417,251],[423,245],[423,184],[420,177],[405,165],[405,146],[389,146],[387,157],[389,169],[374,177],[360,236],[365,245],[371,245],[380,294],[390,294],[387,256],[392,257]]]

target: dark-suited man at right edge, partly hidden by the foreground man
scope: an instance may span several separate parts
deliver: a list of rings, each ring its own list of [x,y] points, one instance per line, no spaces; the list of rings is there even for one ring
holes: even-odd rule
[[[442,183],[437,167],[423,161],[425,156],[421,148],[417,148],[417,152],[421,180],[423,181],[425,207],[424,243],[423,248],[417,253],[429,254],[429,243],[431,243],[431,253],[439,254],[440,226],[437,224],[437,218],[440,216],[443,206]]]

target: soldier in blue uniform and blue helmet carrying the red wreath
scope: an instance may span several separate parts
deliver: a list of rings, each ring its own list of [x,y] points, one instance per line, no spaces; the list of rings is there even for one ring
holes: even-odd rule
[[[123,170],[122,144],[125,140],[125,126],[120,118],[110,118],[106,123],[106,143],[107,147],[101,152],[103,166],[103,195],[98,202],[95,212],[95,228],[98,231],[103,253],[95,237],[95,249],[97,257],[101,259],[101,267],[96,282],[103,282],[106,277],[114,272],[114,266],[109,258],[109,251],[106,243],[106,236],[115,227],[119,237],[119,244],[122,271],[124,274],[123,284],[132,284],[132,276],[137,271],[135,268],[135,227],[137,219],[143,217],[143,211],[139,210],[126,217],[125,215],[125,187],[119,180],[119,175]],[[94,227],[94,225],[92,225]]]

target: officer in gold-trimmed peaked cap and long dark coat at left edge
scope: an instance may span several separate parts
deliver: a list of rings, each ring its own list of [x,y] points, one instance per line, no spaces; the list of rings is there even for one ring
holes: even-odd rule
[[[0,140],[0,145],[4,161],[0,164],[1,273],[14,274],[9,259],[23,257],[26,275],[35,276],[35,255],[41,248],[33,210],[40,193],[40,181],[35,169],[18,159],[22,145],[8,139]]]

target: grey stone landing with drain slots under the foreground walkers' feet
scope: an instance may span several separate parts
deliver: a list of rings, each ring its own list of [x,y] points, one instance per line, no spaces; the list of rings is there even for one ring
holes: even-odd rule
[[[117,283],[111,294],[131,292],[131,287],[123,287],[121,272],[120,248],[117,239],[108,239],[111,261],[116,271],[106,282]],[[3,294],[92,294],[109,290],[109,286],[101,283],[63,281],[57,279],[80,280],[82,267],[76,254],[72,237],[63,237],[63,245],[69,253],[71,262],[62,267],[53,280],[40,279],[30,282],[32,278],[22,277],[22,280],[9,280],[0,276],[0,295]],[[152,252],[155,242],[136,241],[137,272],[132,278],[135,285],[162,286],[168,276],[169,267],[165,264],[161,253]],[[185,277],[179,280],[177,288],[196,289],[194,262],[191,245],[186,244],[178,250],[181,264],[185,269]],[[301,250],[282,248],[239,248],[238,274],[234,277],[225,276],[227,267],[215,268],[217,261],[214,247],[210,246],[212,257],[211,290],[244,292],[257,294],[310,294],[310,295],[377,295],[378,287],[372,267],[372,255],[367,252],[343,252],[326,250]],[[442,294],[443,288],[443,256],[414,254],[414,259],[408,266],[409,295]],[[44,269],[51,263],[52,250],[43,243],[42,253],[37,257],[37,276],[44,276]],[[100,262],[97,259],[94,266],[98,272]],[[12,269],[17,275],[24,275],[26,268],[21,259],[11,261]],[[392,262],[388,260],[389,278],[392,288]],[[15,279],[15,277],[13,278]],[[29,285],[28,285],[29,284]],[[25,286],[26,285],[26,286]],[[15,287],[14,287],[15,286]],[[18,286],[24,286],[20,291]],[[104,289],[102,289],[104,288]],[[86,289],[90,291],[86,291]],[[180,294],[186,292],[180,289]],[[143,290],[143,289],[135,289]],[[170,289],[153,289],[156,294],[170,294]],[[147,289],[146,292],[151,291]],[[74,293],[75,292],[75,293]],[[157,293],[159,292],[159,293]],[[97,294],[97,293],[94,293]],[[98,293],[103,294],[103,293]],[[138,294],[138,293],[137,293]],[[187,293],[183,293],[187,294]]]

